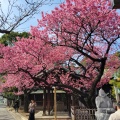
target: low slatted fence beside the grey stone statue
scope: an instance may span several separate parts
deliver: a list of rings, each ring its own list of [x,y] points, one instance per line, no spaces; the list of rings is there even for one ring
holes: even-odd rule
[[[75,107],[75,120],[96,120],[95,111],[96,109]]]

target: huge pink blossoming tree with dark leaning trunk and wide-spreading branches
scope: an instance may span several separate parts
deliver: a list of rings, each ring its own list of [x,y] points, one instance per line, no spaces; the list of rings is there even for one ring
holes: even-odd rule
[[[120,66],[114,56],[120,47],[120,16],[103,0],[66,0],[42,15],[31,28],[33,37],[0,47],[3,88],[16,86],[21,92],[57,85],[93,107],[96,87],[108,83]]]

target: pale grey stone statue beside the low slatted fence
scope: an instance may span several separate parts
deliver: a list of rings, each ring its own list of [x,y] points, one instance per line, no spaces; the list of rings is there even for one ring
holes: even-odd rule
[[[99,90],[95,103],[97,107],[97,111],[95,112],[97,120],[108,120],[110,114],[115,112],[111,99],[102,88]]]

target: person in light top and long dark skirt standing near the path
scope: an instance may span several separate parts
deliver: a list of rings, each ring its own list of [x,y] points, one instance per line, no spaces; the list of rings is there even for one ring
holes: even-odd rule
[[[29,119],[28,120],[35,120],[35,108],[36,108],[36,103],[34,100],[31,100],[29,104]]]

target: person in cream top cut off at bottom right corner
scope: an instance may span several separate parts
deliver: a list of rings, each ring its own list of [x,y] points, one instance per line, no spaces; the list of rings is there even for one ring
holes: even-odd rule
[[[112,113],[108,120],[120,120],[120,101],[117,103],[117,111]]]

